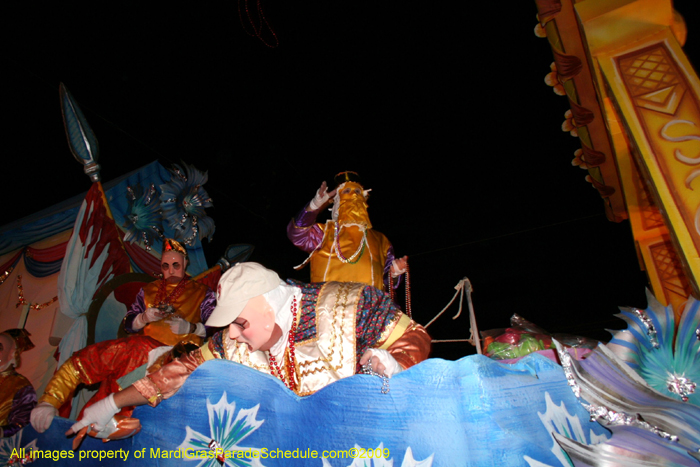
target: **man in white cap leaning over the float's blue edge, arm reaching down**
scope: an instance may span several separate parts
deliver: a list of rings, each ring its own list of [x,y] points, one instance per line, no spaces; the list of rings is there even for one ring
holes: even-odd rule
[[[239,263],[221,277],[217,299],[207,324],[227,329],[88,408],[67,434],[93,423],[100,432],[124,406],[158,405],[207,360],[255,368],[304,396],[359,373],[369,362],[375,372],[391,377],[430,352],[430,336],[422,326],[387,294],[360,283],[285,283],[260,264]]]

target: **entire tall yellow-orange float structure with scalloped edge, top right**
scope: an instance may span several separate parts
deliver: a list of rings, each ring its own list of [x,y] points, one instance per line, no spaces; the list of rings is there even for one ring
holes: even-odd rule
[[[574,165],[629,219],[640,264],[676,318],[700,298],[700,80],[671,0],[536,0],[554,63],[545,82],[571,104]],[[676,321],[677,322],[677,321]]]

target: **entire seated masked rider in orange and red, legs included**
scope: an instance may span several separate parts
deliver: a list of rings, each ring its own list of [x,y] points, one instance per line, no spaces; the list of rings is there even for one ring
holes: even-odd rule
[[[171,346],[175,346],[171,354],[177,355],[188,346],[197,348],[202,344],[207,331],[202,322],[214,311],[216,296],[209,287],[185,274],[188,261],[187,251],[180,243],[164,240],[163,279],[146,284],[124,318],[127,333],[138,334],[98,342],[66,360],[32,411],[31,423],[36,431],[43,433],[51,426],[58,410],[79,385],[99,383],[100,387],[78,418],[91,405],[121,390],[119,378],[145,364],[149,370],[156,368],[152,364],[173,349]],[[133,407],[125,407],[120,414],[129,416],[132,411]]]

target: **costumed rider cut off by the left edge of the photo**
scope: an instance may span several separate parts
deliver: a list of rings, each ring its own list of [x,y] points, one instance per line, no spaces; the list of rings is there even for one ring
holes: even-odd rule
[[[20,354],[34,348],[25,329],[0,333],[0,438],[8,438],[29,423],[36,405],[36,392],[27,378],[15,371]]]

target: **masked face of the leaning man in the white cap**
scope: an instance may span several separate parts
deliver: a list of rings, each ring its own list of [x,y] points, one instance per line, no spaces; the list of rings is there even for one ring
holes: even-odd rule
[[[246,344],[248,350],[270,350],[279,337],[273,337],[275,312],[265,297],[258,295],[248,300],[238,318],[228,327],[231,339]]]

